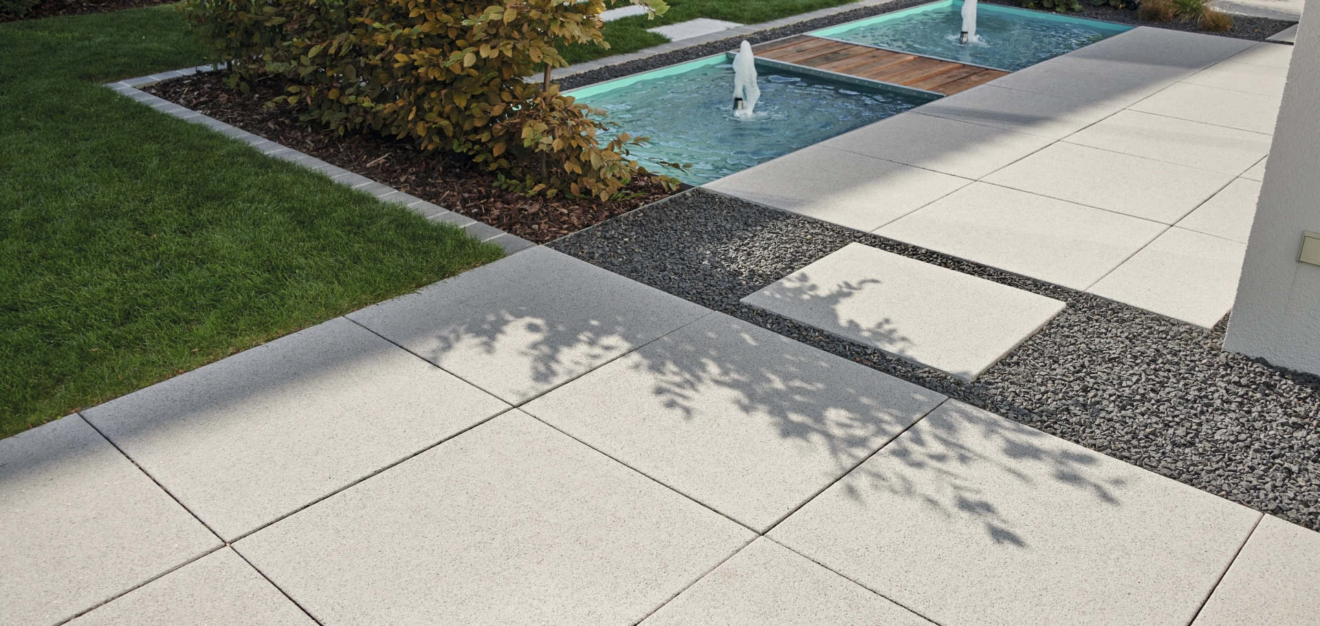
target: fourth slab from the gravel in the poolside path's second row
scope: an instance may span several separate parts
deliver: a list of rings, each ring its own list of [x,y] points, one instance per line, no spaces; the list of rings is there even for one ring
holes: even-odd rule
[[[1242,131],[1274,133],[1279,98],[1204,85],[1177,83],[1137,104],[1134,111]]]

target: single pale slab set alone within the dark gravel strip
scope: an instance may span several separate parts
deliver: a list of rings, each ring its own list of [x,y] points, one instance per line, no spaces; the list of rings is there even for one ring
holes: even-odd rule
[[[1064,302],[850,243],[743,302],[974,380]]]

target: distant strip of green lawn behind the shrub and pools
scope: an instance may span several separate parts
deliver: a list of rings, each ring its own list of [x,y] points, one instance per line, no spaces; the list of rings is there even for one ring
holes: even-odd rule
[[[605,24],[606,50],[599,46],[566,46],[564,58],[570,63],[582,63],[610,54],[627,54],[664,44],[664,37],[648,33],[648,28],[677,24],[680,21],[709,17],[711,20],[735,21],[738,24],[759,24],[780,17],[808,13],[829,7],[838,7],[857,0],[665,0],[669,11],[655,20],[645,16],[624,17]],[[607,8],[627,7],[627,0],[606,0]]]

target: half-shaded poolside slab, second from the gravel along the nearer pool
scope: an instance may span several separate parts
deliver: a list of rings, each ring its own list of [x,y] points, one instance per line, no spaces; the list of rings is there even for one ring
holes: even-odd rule
[[[822,145],[962,178],[981,178],[1051,141],[1036,135],[909,111],[840,135]]]

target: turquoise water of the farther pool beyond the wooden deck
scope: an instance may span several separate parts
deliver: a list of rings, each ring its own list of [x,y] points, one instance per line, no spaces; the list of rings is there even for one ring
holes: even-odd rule
[[[979,41],[960,44],[962,1],[913,7],[812,34],[1016,71],[1131,26],[994,4],[977,5]]]

